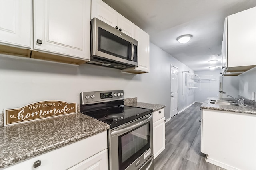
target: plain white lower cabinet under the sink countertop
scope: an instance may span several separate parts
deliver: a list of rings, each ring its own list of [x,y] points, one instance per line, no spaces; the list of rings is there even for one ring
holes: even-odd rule
[[[206,162],[228,170],[256,169],[256,115],[202,109]]]

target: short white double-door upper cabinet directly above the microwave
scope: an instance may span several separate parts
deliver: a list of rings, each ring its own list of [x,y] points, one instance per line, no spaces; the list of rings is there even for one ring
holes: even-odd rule
[[[91,19],[95,17],[122,31],[126,35],[135,38],[135,24],[102,0],[92,0]]]

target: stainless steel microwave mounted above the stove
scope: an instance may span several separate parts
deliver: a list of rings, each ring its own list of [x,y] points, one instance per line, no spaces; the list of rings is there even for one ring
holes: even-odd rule
[[[91,20],[89,64],[125,69],[138,66],[138,41],[98,18]]]

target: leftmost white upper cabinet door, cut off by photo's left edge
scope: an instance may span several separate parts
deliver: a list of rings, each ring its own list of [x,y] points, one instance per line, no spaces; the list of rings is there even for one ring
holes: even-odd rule
[[[31,48],[32,0],[0,0],[0,43]]]

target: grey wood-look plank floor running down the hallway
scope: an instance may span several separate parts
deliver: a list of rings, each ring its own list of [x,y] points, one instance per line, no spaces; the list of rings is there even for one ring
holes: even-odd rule
[[[202,103],[194,103],[166,123],[165,150],[155,159],[154,170],[225,170],[205,162],[201,147]]]

